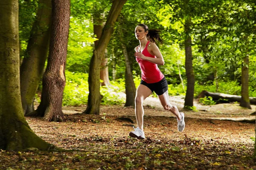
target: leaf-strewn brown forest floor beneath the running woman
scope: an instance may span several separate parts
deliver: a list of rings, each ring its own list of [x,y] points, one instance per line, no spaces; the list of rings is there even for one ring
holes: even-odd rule
[[[182,97],[170,97],[182,110]],[[0,151],[0,169],[232,169],[256,170],[253,160],[253,111],[239,104],[200,105],[184,111],[186,128],[156,98],[145,103],[145,140],[128,136],[136,125],[134,108],[101,106],[100,115],[84,115],[86,107],[63,107],[64,122],[26,118],[32,130],[63,152]],[[226,120],[225,120],[226,119]],[[233,121],[230,121],[233,120]],[[234,121],[236,120],[236,121]]]

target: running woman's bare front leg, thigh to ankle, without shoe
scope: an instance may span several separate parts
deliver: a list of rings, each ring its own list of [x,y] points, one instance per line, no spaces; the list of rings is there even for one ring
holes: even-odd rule
[[[143,102],[144,100],[152,94],[152,91],[145,85],[139,85],[135,96],[135,115],[137,119],[137,127],[143,131]]]

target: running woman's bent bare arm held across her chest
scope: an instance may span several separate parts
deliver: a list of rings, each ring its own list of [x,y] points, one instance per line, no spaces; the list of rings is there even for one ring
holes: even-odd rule
[[[148,52],[152,55],[155,55],[157,58],[145,57],[141,53],[135,53],[134,56],[136,58],[140,58],[140,59],[147,60],[149,62],[153,62],[154,64],[157,64],[157,65],[164,65],[163,55],[161,54],[159,48],[157,47],[157,45],[155,43],[153,43],[153,42],[149,43]]]

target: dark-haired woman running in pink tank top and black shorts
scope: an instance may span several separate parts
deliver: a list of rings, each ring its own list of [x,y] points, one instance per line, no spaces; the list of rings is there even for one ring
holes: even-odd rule
[[[140,45],[135,47],[137,62],[141,69],[141,82],[137,88],[135,96],[135,115],[137,128],[129,133],[129,136],[137,139],[145,139],[143,131],[143,102],[155,91],[163,108],[171,111],[177,117],[178,130],[182,132],[185,128],[184,113],[179,112],[175,105],[169,102],[168,85],[164,75],[157,65],[164,65],[163,56],[157,47],[156,40],[162,42],[158,30],[149,30],[145,24],[139,24],[135,28],[135,36],[140,41]]]

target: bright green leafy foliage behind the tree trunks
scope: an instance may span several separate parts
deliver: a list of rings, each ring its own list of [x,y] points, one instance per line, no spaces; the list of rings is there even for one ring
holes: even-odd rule
[[[125,3],[105,51],[107,63],[102,68],[108,69],[108,75],[102,79],[109,77],[110,82],[106,81],[107,87],[101,87],[103,95],[101,105],[125,104],[125,96],[122,93],[125,93],[126,65],[122,43],[127,48],[136,87],[140,83],[140,68],[133,55],[134,47],[139,45],[134,35],[134,28],[138,23],[145,23],[149,29],[156,28],[161,31],[164,43],[158,46],[165,59],[165,65],[159,68],[168,81],[169,95],[185,96],[186,94],[184,40],[189,35],[192,40],[195,97],[202,90],[241,96],[242,67],[245,57],[250,61],[246,63],[246,66],[250,65],[249,96],[256,97],[256,71],[253,67],[256,62],[253,48],[255,23],[254,18],[248,17],[255,13],[253,3],[248,5],[246,1],[220,1],[204,4],[198,1],[201,6],[191,10],[191,16],[188,15],[189,11],[179,7],[182,3],[184,2],[179,4],[178,1],[173,1],[174,5],[169,5],[166,1],[157,0]],[[40,4],[36,0],[20,0],[21,62],[27,54],[32,23],[35,21],[38,6]],[[189,3],[189,6],[192,7],[193,3]],[[94,41],[97,40],[93,25],[104,26],[110,8],[110,1],[71,0],[63,105],[87,104],[90,58],[93,55]],[[186,18],[191,19],[188,33],[183,25]],[[245,25],[251,29],[244,28]],[[120,29],[123,35],[120,35]],[[35,96],[37,102],[40,102],[41,89],[42,86],[39,85]]]

